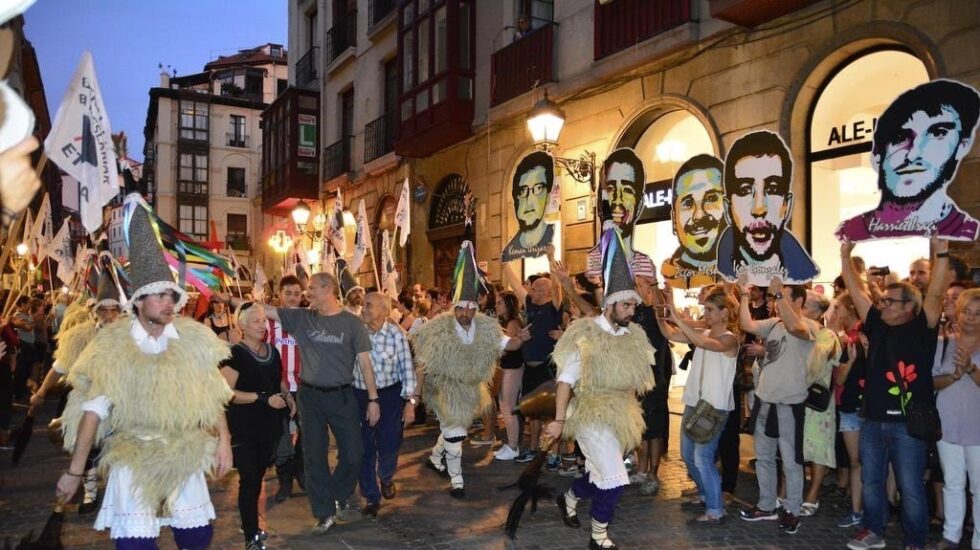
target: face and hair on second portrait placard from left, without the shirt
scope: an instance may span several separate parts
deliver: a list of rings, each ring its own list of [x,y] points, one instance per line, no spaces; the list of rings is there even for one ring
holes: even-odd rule
[[[602,221],[615,222],[625,241],[632,240],[633,224],[643,206],[644,183],[643,162],[628,147],[616,149],[603,163],[599,188]]]

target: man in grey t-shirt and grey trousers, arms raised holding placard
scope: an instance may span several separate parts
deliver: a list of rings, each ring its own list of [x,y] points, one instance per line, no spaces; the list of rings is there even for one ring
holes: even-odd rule
[[[766,297],[775,303],[777,317],[756,321],[749,310],[746,276],[740,276],[738,282],[739,325],[742,330],[762,337],[766,346],[765,354],[759,358],[759,381],[752,409],[759,501],[752,509],[742,510],[740,516],[746,521],[778,518],[783,531],[795,534],[803,504],[806,373],[820,327],[801,313],[806,301],[803,287],[783,287],[782,280],[773,277]],[[781,513],[776,511],[777,448],[786,474],[786,502]]]

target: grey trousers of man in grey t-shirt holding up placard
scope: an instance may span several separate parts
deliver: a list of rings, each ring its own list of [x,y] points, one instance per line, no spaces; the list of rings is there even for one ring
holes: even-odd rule
[[[786,502],[783,507],[794,516],[800,515],[803,505],[803,465],[796,461],[796,420],[794,405],[766,403],[759,400],[759,412],[755,421],[755,473],[759,481],[759,503],[762,510],[776,508],[778,468],[776,450],[782,456],[783,473],[786,475]],[[779,417],[779,437],[766,435],[766,422],[770,408]],[[802,433],[799,434],[802,437]]]

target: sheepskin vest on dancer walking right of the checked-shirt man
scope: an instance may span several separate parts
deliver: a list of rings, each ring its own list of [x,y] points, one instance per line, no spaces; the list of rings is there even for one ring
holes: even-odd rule
[[[472,344],[456,334],[453,312],[422,325],[412,340],[416,361],[422,363],[422,398],[445,426],[469,427],[490,409],[490,382],[500,359],[500,324],[477,313]]]

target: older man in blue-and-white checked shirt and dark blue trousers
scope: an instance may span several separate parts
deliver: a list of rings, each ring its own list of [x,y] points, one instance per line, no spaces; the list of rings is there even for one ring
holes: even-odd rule
[[[402,443],[402,428],[415,421],[415,367],[405,332],[390,322],[388,298],[380,292],[364,297],[361,319],[371,338],[371,365],[381,403],[381,419],[371,427],[361,422],[364,458],[361,462],[359,485],[367,504],[361,510],[365,516],[377,517],[381,497],[395,498],[395,469],[398,466],[398,447]],[[367,413],[367,386],[360,367],[354,369],[354,397],[361,410]],[[378,478],[381,489],[378,489]]]

